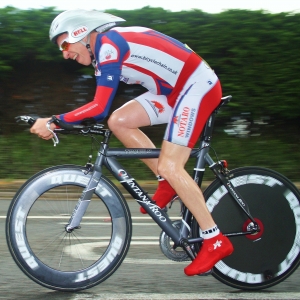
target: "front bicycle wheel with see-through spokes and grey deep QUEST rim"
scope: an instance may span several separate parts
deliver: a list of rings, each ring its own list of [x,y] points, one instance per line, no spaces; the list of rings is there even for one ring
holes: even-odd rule
[[[79,166],[37,173],[13,198],[6,239],[19,268],[38,284],[60,291],[91,288],[111,276],[130,246],[132,223],[119,190],[101,177],[79,228],[65,226],[91,174]]]

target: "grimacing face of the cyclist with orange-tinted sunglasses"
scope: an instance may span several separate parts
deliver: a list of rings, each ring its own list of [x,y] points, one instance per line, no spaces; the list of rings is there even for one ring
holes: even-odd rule
[[[63,48],[62,54],[64,59],[73,59],[82,65],[90,65],[91,57],[88,50],[84,45],[77,42],[74,44],[65,45],[64,41],[68,40],[68,34],[64,33],[57,38],[57,45],[59,48]],[[62,45],[62,46],[61,46]]]

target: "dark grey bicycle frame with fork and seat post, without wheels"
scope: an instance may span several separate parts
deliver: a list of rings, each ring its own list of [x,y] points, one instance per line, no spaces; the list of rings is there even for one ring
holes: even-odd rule
[[[223,98],[224,103],[230,100],[229,97]],[[223,103],[222,103],[223,104]],[[259,231],[259,227],[253,217],[250,214],[249,208],[245,200],[238,194],[235,188],[231,185],[227,173],[221,162],[214,162],[214,160],[209,155],[209,148],[212,136],[212,129],[215,120],[215,115],[218,108],[208,119],[203,134],[201,135],[199,148],[192,149],[191,157],[196,157],[196,163],[194,167],[193,179],[201,187],[202,179],[205,171],[205,166],[208,165],[209,168],[214,172],[217,178],[223,183],[223,185],[228,190],[228,193],[232,198],[238,203],[244,213],[252,221],[252,228],[246,232],[236,232],[236,233],[223,233],[227,236],[239,236],[246,234],[253,234]],[[101,134],[104,136],[104,140],[101,143],[96,162],[93,166],[92,177],[84,189],[76,208],[73,211],[69,225],[66,227],[67,231],[72,231],[74,228],[78,227],[81,218],[92,198],[94,190],[97,188],[98,183],[101,184],[102,176],[102,166],[104,165],[111,174],[123,185],[123,187],[131,194],[131,196],[147,211],[151,218],[156,222],[160,228],[173,240],[175,246],[183,247],[188,255],[194,259],[195,254],[190,248],[192,243],[201,243],[203,239],[199,238],[188,238],[190,233],[190,221],[192,218],[191,212],[184,206],[181,229],[178,231],[173,225],[172,221],[168,217],[167,213],[155,205],[153,200],[148,196],[147,192],[143,190],[141,186],[135,181],[135,179],[129,174],[129,172],[118,162],[117,158],[158,158],[161,149],[152,148],[109,148],[108,142],[111,136],[111,131],[108,129],[101,129]]]

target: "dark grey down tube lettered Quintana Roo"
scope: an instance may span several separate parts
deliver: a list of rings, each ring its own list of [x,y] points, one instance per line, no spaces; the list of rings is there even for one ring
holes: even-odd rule
[[[115,158],[107,157],[104,160],[104,165],[131,196],[144,207],[157,225],[178,245],[181,240],[179,231],[172,225],[172,221],[166,212],[153,203],[148,193],[138,185],[134,178],[131,177]]]

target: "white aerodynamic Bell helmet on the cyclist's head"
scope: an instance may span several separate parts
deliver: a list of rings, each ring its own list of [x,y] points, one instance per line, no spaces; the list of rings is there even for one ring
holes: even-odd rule
[[[90,32],[103,32],[125,20],[111,14],[96,10],[74,9],[60,13],[53,21],[49,30],[50,41],[56,44],[56,39],[63,33],[68,33],[69,43],[82,40]]]

